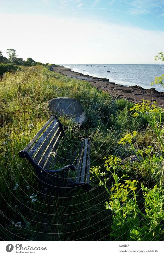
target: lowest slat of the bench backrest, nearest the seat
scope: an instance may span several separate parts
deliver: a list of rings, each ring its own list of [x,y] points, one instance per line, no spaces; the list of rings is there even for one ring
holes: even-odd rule
[[[49,169],[49,166],[51,165],[51,169],[52,169],[52,166],[55,165],[56,163],[56,159],[57,159],[57,156],[54,155],[54,153],[56,153],[59,145],[61,144],[61,141],[62,141],[62,138],[63,137],[63,134],[62,132],[59,133],[53,147],[52,147],[52,150],[50,151],[48,157],[47,157],[47,160],[45,162],[45,164],[43,165],[43,168],[44,169]]]

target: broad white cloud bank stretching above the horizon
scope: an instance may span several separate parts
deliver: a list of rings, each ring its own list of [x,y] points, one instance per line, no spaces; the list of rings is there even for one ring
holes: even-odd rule
[[[164,32],[93,19],[1,14],[0,23],[4,56],[12,48],[19,58],[43,63],[157,64],[154,56],[164,49]]]

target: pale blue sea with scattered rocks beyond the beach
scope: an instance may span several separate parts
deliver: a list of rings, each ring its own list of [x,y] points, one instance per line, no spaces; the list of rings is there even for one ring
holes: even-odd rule
[[[148,64],[67,64],[66,68],[100,78],[109,78],[110,82],[125,86],[139,85],[144,89],[154,87],[157,91],[164,92],[160,84],[153,84],[156,76],[164,74],[164,65]],[[110,72],[107,72],[110,71]]]

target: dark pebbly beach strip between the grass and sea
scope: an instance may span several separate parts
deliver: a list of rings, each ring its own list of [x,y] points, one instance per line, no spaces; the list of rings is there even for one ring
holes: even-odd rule
[[[153,87],[151,89],[143,89],[138,85],[127,87],[110,82],[107,78],[84,75],[69,68],[65,68],[64,66],[52,66],[50,70],[64,74],[70,78],[87,81],[98,90],[103,90],[116,99],[127,99],[127,101],[133,103],[141,103],[142,100],[150,100],[151,102],[156,101],[158,106],[164,106],[164,92],[158,92]]]

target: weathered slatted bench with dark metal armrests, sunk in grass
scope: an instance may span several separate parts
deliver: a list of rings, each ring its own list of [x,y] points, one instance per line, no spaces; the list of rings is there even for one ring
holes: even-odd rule
[[[71,142],[76,147],[73,150],[68,150],[67,156],[72,152],[71,159],[66,159],[66,162],[70,161],[69,165],[59,169],[54,170],[54,166],[57,163],[60,148],[65,145],[67,129],[59,122],[56,115],[51,115],[29,144],[19,152],[19,156],[26,158],[33,166],[42,193],[47,189],[54,188],[57,191],[72,188],[89,191],[91,188],[89,184],[91,137],[79,135],[76,132],[76,127],[72,129],[71,133],[73,136]]]

